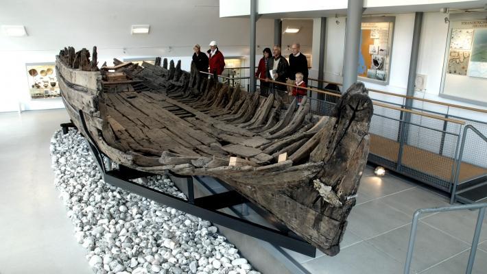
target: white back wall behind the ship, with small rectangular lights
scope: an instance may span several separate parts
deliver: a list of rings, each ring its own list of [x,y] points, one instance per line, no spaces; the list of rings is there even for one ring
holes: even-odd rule
[[[217,40],[226,56],[248,56],[248,18],[219,18],[217,5],[217,0],[88,0],[66,8],[60,0],[2,2],[0,25],[25,25],[29,36],[0,33],[0,112],[18,110],[19,101],[24,109],[62,107],[59,100],[29,99],[25,63],[54,62],[67,45],[90,50],[97,45],[99,65],[111,64],[112,58],[169,56],[186,57],[182,67],[189,68],[193,45],[207,49],[211,40]],[[130,26],[136,24],[149,24],[150,34],[132,36]],[[273,40],[274,21],[259,19],[257,44],[268,47]]]

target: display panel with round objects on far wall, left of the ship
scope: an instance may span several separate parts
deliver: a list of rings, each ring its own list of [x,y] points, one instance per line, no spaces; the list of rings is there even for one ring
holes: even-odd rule
[[[31,99],[60,97],[55,63],[25,64]]]

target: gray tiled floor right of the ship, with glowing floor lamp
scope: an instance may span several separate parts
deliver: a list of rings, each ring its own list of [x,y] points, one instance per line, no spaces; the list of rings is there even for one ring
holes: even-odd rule
[[[377,177],[368,166],[337,256],[287,251],[313,274],[403,273],[414,211],[449,206],[449,199],[405,179]],[[465,273],[478,211],[444,212],[420,219],[411,273]],[[487,220],[472,273],[487,273]]]

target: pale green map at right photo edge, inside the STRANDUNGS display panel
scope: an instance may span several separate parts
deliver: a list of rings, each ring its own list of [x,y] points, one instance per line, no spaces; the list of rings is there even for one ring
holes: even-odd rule
[[[475,29],[468,76],[487,78],[487,28]]]

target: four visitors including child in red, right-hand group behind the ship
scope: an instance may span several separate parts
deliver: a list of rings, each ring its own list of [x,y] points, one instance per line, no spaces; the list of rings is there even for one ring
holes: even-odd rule
[[[261,94],[267,96],[271,87],[270,80],[293,84],[292,96],[304,96],[307,94],[306,83],[308,81],[308,61],[306,56],[300,53],[298,43],[292,45],[292,53],[289,62],[281,55],[281,47],[274,45],[272,52],[266,47],[255,77],[261,79]],[[284,89],[283,85],[273,84],[274,88]]]

